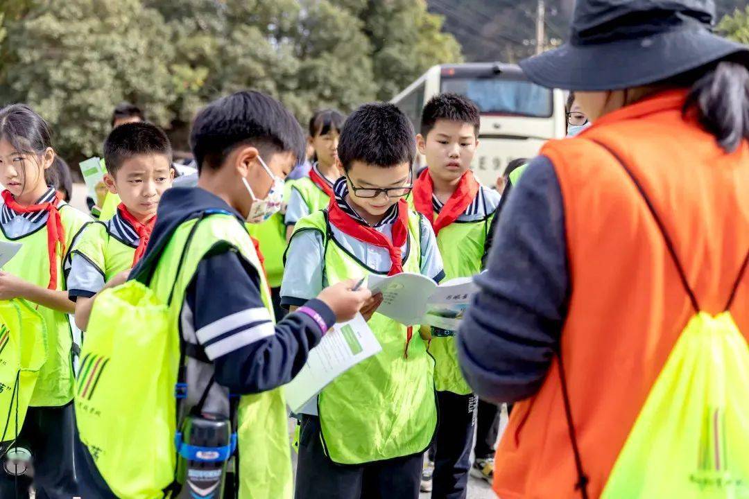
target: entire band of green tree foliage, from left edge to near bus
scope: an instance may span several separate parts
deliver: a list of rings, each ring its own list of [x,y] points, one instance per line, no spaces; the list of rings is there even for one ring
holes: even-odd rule
[[[36,108],[70,159],[100,150],[123,100],[186,147],[195,111],[232,91],[265,91],[304,122],[315,108],[350,111],[389,99],[431,65],[461,60],[424,0],[0,0],[0,7],[0,105]]]

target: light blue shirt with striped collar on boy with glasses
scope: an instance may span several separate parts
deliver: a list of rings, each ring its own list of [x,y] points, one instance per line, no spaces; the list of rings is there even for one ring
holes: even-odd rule
[[[348,186],[345,178],[336,182],[334,189],[336,202],[341,209],[351,218],[360,224],[366,225],[367,222],[357,213],[357,211],[348,204],[345,196],[348,195]],[[445,277],[442,266],[442,257],[437,249],[437,239],[434,237],[434,230],[431,224],[422,218],[419,224],[419,238],[421,239],[421,273],[435,282],[440,282]],[[394,204],[383,216],[382,220],[373,227],[377,232],[387,236],[392,240],[392,225],[398,218],[398,204]],[[386,248],[369,245],[361,242],[352,236],[342,232],[337,227],[330,224],[330,230],[333,238],[341,247],[353,255],[357,260],[364,263],[370,269],[377,272],[387,273],[390,270],[390,254]],[[405,245],[403,246],[405,254]],[[410,258],[416,255],[410,255]],[[286,254],[288,272],[284,273],[281,284],[281,304],[285,307],[301,306],[309,299],[318,295],[325,287],[328,286],[324,278],[324,269],[321,265],[324,262],[323,239],[316,230],[305,230],[297,233],[289,243]]]

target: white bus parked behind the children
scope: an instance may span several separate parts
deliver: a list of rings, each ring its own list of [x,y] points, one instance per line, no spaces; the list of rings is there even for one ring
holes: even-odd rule
[[[471,168],[485,186],[494,186],[513,159],[532,158],[545,141],[565,136],[564,92],[530,82],[515,64],[434,66],[390,102],[418,132],[424,104],[442,92],[464,95],[481,111],[481,143]],[[424,159],[417,163],[424,165]]]

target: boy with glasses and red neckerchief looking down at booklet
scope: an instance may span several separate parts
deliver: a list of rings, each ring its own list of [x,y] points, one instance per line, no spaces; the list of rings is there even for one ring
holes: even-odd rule
[[[298,307],[328,284],[369,274],[416,272],[440,281],[431,224],[408,208],[416,142],[391,104],[367,104],[346,120],[336,182],[324,211],[291,236],[282,304]],[[422,453],[437,427],[434,360],[417,328],[362,313],[382,352],[351,368],[303,409],[297,499],[418,498]],[[341,466],[347,465],[347,466]]]

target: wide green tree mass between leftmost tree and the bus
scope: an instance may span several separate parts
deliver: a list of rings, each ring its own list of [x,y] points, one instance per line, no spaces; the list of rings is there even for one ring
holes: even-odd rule
[[[461,60],[423,0],[150,0],[172,28],[179,71],[176,127],[217,94],[256,88],[300,120],[389,99],[433,64]]]

